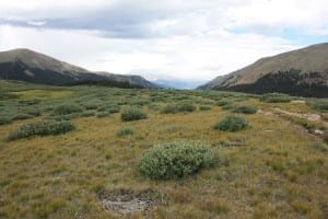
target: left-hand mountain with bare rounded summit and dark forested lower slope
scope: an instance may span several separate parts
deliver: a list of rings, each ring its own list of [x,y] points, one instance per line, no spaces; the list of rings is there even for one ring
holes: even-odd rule
[[[99,82],[116,85],[121,83],[132,87],[155,87],[140,76],[93,72],[30,49],[0,53],[0,79],[54,85]]]

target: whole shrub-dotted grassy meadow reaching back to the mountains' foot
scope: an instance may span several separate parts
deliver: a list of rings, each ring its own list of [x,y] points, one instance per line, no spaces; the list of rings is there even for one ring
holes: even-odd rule
[[[0,81],[0,218],[327,218],[328,102],[270,97]],[[131,106],[147,116],[122,122]],[[231,114],[248,126],[213,128]],[[39,120],[74,129],[8,139]],[[173,140],[207,142],[215,164],[176,180],[142,175],[145,152]],[[102,194],[144,191],[156,200],[147,212],[103,205]]]

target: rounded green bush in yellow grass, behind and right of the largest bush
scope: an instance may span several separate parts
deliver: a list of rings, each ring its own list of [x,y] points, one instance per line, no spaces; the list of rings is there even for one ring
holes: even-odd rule
[[[226,131],[238,131],[248,126],[248,122],[237,115],[229,115],[223,119],[219,120],[214,125],[214,129],[226,130]]]

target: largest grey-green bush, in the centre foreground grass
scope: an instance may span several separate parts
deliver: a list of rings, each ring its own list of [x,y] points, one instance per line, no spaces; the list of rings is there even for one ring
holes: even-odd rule
[[[210,146],[201,141],[156,145],[140,160],[139,170],[154,180],[180,178],[214,163]]]

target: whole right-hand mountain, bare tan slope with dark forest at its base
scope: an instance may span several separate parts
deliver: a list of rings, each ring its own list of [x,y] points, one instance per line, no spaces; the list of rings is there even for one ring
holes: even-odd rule
[[[199,89],[328,97],[328,43],[259,59]]]

